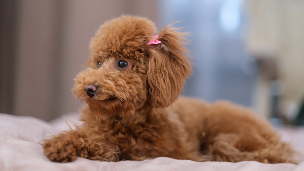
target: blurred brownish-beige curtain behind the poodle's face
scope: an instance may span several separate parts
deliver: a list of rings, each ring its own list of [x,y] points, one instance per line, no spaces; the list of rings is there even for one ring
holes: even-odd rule
[[[14,114],[51,120],[78,112],[71,89],[99,25],[121,14],[157,22],[157,1],[20,0]]]

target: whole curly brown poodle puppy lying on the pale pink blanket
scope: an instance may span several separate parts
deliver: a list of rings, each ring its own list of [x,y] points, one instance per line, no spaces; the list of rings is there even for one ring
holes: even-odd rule
[[[74,94],[86,102],[82,126],[43,144],[54,162],[170,157],[193,161],[293,163],[293,151],[249,109],[179,97],[192,73],[185,33],[171,25],[122,16],[91,41],[88,69]]]

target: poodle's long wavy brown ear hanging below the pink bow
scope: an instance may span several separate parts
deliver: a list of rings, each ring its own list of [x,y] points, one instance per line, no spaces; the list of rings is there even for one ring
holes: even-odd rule
[[[188,50],[184,47],[186,33],[166,26],[159,33],[160,44],[148,45],[147,82],[152,105],[167,107],[178,98],[185,79],[192,73]]]

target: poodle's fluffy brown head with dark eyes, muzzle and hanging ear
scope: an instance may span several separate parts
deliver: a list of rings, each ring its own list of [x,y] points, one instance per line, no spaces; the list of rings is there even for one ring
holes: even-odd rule
[[[192,72],[183,46],[184,33],[167,26],[153,40],[154,23],[122,16],[106,22],[92,38],[88,68],[75,78],[77,98],[93,113],[115,115],[144,104],[169,106]]]

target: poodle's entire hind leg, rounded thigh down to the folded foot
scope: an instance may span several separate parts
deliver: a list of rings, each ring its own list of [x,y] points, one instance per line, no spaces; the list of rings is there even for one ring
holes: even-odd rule
[[[295,163],[293,150],[278,133],[244,107],[216,102],[206,113],[204,151],[214,161]]]

